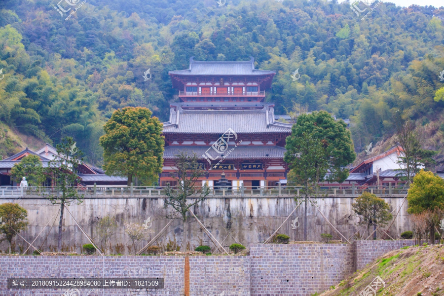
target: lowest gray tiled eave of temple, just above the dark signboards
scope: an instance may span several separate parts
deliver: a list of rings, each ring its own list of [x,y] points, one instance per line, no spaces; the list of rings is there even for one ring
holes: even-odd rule
[[[175,158],[176,154],[179,154],[180,151],[185,150],[188,153],[196,153],[199,159],[203,159],[202,154],[204,154],[209,146],[167,146],[165,147],[165,151],[163,152],[163,158]],[[229,145],[228,150],[234,148],[234,145]],[[211,151],[209,153],[213,155],[213,158],[216,158],[217,155],[215,151]],[[252,158],[283,158],[285,153],[285,148],[278,146],[238,146],[236,147],[226,159],[252,159]],[[268,154],[268,156],[266,156]],[[221,155],[221,154],[220,154]],[[217,162],[221,159],[219,157]]]

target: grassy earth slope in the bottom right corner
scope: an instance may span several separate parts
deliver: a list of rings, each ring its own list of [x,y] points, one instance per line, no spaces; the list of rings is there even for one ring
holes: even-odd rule
[[[444,245],[389,252],[321,296],[358,296],[377,275],[386,283],[377,296],[443,296]]]

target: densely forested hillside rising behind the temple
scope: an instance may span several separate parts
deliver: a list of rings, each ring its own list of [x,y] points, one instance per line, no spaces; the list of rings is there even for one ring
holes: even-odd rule
[[[444,7],[379,3],[357,17],[335,0],[83,2],[68,17],[81,1],[59,2],[72,7],[64,13],[57,0],[1,0],[1,123],[54,143],[73,136],[100,165],[98,139],[115,109],[148,107],[168,120],[177,101],[168,71],[187,69],[191,56],[253,56],[276,71],[266,100],[277,114],[294,101],[351,118],[360,152],[390,137],[399,110],[443,154]]]

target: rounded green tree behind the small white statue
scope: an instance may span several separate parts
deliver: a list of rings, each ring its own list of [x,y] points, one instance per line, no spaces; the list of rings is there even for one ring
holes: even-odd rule
[[[29,154],[14,165],[11,169],[11,177],[15,182],[20,183],[23,177],[26,177],[29,186],[41,186],[46,180],[40,157]]]

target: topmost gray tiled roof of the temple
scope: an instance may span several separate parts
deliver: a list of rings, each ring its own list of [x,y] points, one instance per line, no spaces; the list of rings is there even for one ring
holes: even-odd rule
[[[180,75],[266,75],[275,74],[275,71],[264,71],[255,69],[255,60],[243,62],[204,62],[189,59],[188,70],[170,71],[169,74]]]

